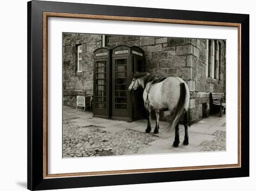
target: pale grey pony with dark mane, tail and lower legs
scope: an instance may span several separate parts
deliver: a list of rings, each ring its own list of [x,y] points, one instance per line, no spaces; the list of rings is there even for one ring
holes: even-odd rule
[[[174,147],[178,147],[179,120],[183,117],[185,127],[184,145],[189,144],[188,135],[188,108],[189,108],[189,87],[179,77],[156,78],[147,72],[136,72],[128,87],[129,92],[134,92],[139,87],[143,89],[144,106],[148,115],[146,133],[151,131],[151,111],[155,110],[156,124],[154,133],[159,132],[160,111],[169,111],[170,119],[166,130],[173,132],[175,129]]]

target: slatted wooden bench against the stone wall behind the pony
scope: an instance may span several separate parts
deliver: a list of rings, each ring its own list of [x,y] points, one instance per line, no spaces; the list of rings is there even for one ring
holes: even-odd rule
[[[220,108],[220,117],[222,116],[222,108],[224,108],[224,114],[226,113],[226,103],[222,98],[222,93],[210,93],[210,113],[212,114],[213,108]]]

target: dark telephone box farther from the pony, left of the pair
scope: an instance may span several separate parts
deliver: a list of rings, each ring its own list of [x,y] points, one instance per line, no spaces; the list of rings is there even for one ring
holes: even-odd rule
[[[110,47],[103,47],[94,51],[94,117],[111,117],[111,53]]]

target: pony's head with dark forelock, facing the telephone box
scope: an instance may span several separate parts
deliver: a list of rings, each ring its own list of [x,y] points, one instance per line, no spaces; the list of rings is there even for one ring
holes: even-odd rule
[[[151,79],[151,74],[147,72],[136,72],[133,76],[132,82],[128,88],[130,92],[135,91],[139,87],[145,88],[145,85],[148,83],[149,78]]]

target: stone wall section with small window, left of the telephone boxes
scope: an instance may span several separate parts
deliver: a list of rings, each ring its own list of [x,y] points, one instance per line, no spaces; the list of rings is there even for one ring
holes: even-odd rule
[[[63,33],[63,102],[76,107],[76,96],[93,94],[93,52],[102,35]],[[82,71],[77,72],[77,46],[82,45]]]

